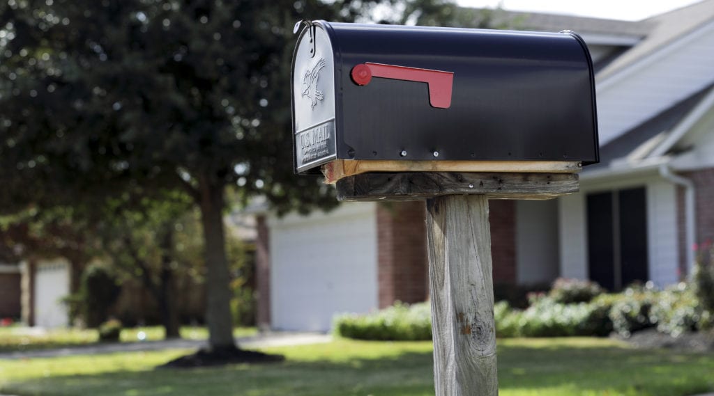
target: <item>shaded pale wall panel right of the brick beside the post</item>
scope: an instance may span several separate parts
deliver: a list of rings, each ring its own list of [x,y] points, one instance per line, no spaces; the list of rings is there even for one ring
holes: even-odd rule
[[[516,201],[516,281],[550,283],[558,278],[558,202]]]

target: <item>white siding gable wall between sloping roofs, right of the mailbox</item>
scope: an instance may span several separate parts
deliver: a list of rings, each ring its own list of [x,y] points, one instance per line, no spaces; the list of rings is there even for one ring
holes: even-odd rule
[[[714,81],[714,23],[683,36],[620,73],[598,80],[604,145]]]

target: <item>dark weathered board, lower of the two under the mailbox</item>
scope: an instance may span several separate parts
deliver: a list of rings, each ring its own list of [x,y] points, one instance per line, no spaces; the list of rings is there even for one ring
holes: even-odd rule
[[[578,192],[578,174],[403,172],[364,173],[336,183],[340,201],[415,201],[481,194],[490,199],[551,199]]]

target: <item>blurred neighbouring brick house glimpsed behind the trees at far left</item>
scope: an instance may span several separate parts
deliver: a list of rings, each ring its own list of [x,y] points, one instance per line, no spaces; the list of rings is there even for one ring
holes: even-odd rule
[[[252,293],[256,286],[251,270],[255,266],[255,222],[254,217],[238,213],[226,216],[233,245],[237,245],[242,256],[239,268],[235,269],[241,273],[232,274],[234,281],[240,281],[234,288],[241,296],[234,298],[238,306],[233,316],[241,325],[252,325],[255,316]],[[72,265],[61,256],[39,255],[16,264],[0,264],[0,319],[41,328],[81,324],[72,323],[68,297],[81,288],[84,270],[84,266]],[[161,322],[159,304],[141,281],[136,278],[116,278],[116,281],[121,288],[106,316],[119,318],[127,326]],[[180,323],[205,323],[206,288],[201,276],[191,276],[185,271],[177,273],[174,287]],[[241,293],[243,290],[246,292]]]

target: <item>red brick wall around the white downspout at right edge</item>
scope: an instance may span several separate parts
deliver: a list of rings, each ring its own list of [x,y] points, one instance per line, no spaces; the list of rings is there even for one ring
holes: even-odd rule
[[[707,241],[714,241],[714,168],[685,172],[682,176],[692,180],[695,184],[695,218],[697,222],[695,242],[702,244]],[[682,270],[682,273],[686,273],[685,269],[688,264],[686,262],[686,249],[692,249],[692,246],[687,246],[685,236],[685,194],[683,187],[679,187],[677,191],[677,220],[679,226],[680,270]]]

